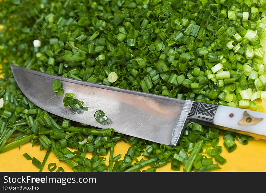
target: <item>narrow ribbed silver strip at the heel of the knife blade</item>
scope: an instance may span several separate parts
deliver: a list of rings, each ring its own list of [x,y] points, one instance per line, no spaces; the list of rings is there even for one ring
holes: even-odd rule
[[[186,127],[187,116],[188,116],[189,112],[191,111],[192,106],[193,106],[193,101],[185,100],[185,103],[183,105],[179,119],[177,120],[177,125],[174,128],[174,131],[172,134],[170,146],[176,146],[177,145],[181,135],[183,134],[184,128]]]

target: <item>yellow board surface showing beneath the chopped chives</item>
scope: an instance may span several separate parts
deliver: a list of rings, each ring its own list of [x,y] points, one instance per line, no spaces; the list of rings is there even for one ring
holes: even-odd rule
[[[1,66],[0,66],[1,67]],[[266,109],[266,103],[263,102],[262,106]],[[221,156],[227,160],[227,163],[220,165],[221,169],[212,170],[215,172],[266,172],[266,140],[255,139],[249,141],[247,145],[240,144],[236,141],[237,148],[232,153],[229,153],[223,146],[223,139],[220,136],[219,146],[222,146]],[[122,154],[121,159],[124,158],[130,145],[124,141],[119,141],[114,148],[114,156]],[[28,142],[21,147],[17,147],[0,153],[0,172],[39,172],[39,169],[31,163],[31,160],[27,160],[22,154],[28,153],[31,157],[36,157],[42,162],[44,159],[46,150],[40,150],[39,145],[32,146],[31,142]],[[91,158],[92,154],[87,153],[86,157]],[[106,158],[106,165],[109,165],[109,154],[103,156]],[[144,158],[145,159],[145,158]],[[139,159],[140,160],[140,159]],[[48,164],[56,163],[57,168],[63,167],[65,172],[72,172],[70,166],[63,161],[59,161],[57,157],[51,152],[47,162],[44,166],[43,172],[49,172]],[[216,163],[216,161],[214,161]],[[147,169],[144,167],[142,169]],[[142,170],[141,169],[141,170]],[[175,172],[171,170],[170,162],[156,169],[157,172]],[[183,171],[181,166],[180,171]]]

